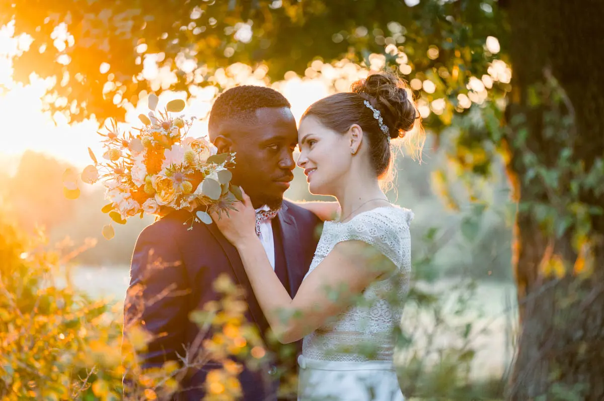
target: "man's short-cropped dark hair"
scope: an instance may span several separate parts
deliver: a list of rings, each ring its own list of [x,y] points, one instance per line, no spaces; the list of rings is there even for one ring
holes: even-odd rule
[[[285,96],[269,87],[242,85],[225,90],[214,101],[210,111],[210,137],[220,134],[223,122],[254,122],[255,111],[265,107],[292,106]]]

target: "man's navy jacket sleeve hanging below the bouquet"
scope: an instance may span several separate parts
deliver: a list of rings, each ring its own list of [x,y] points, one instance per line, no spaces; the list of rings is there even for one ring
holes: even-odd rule
[[[130,266],[124,334],[138,325],[150,333],[146,349],[137,352],[144,369],[161,367],[177,359],[177,353],[184,354],[188,280],[170,223],[160,220],[143,230]]]

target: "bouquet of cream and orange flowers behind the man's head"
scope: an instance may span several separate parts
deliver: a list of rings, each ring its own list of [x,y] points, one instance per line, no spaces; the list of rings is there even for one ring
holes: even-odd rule
[[[88,149],[94,165],[86,166],[82,181],[101,181],[109,204],[104,213],[118,224],[139,215],[163,216],[172,210],[201,210],[193,221],[210,224],[210,212],[233,208],[241,199],[238,187],[230,185],[233,153],[216,154],[217,149],[203,138],[187,137],[192,120],[173,116],[184,109],[182,100],[170,101],[155,114],[158,98],[149,96],[149,115],[139,115],[143,128],[120,133],[115,121],[105,127],[103,159],[98,162]],[[136,132],[138,131],[138,132]],[[189,227],[191,229],[192,227]],[[103,227],[105,238],[112,238],[111,224]]]

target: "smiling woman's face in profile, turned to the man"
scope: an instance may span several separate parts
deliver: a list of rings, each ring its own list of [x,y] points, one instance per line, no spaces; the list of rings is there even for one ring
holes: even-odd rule
[[[325,127],[315,116],[307,116],[300,122],[298,147],[298,166],[304,169],[310,193],[337,194],[352,160],[347,136]]]

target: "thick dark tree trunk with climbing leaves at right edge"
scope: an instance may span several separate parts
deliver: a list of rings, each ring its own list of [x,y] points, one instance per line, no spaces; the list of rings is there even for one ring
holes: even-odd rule
[[[604,206],[604,2],[507,6],[507,168],[519,205],[513,262],[521,323],[508,396],[604,400],[604,218],[597,214]],[[600,173],[583,177],[582,169]],[[581,215],[582,207],[591,214]]]

